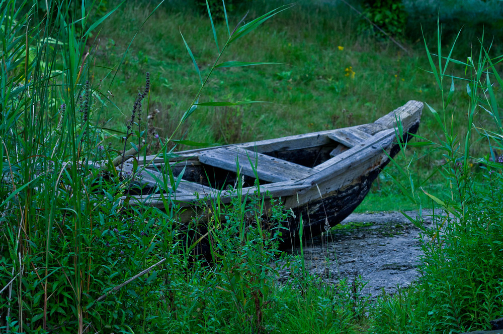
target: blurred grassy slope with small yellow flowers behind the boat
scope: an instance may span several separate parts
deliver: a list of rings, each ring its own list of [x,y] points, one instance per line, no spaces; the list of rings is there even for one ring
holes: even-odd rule
[[[227,2],[229,22],[237,24],[248,10],[245,21],[287,3]],[[115,2],[109,5],[112,7]],[[96,67],[91,69],[95,78],[93,86],[110,98],[95,115],[99,124],[119,130],[125,128],[134,97],[142,89],[144,73],[150,72],[149,113],[155,114],[152,125],[161,138],[173,132],[199,89],[180,31],[203,75],[218,54],[206,9],[200,5],[197,1],[164,2],[142,26],[156,3],[128,1],[106,21],[94,53]],[[351,5],[358,11],[365,10],[364,2],[351,2]],[[218,6],[221,6],[219,2]],[[368,25],[366,21],[341,1],[300,1],[262,29],[246,36],[244,43],[231,45],[225,59],[221,59],[283,65],[220,69],[200,98],[200,102],[273,103],[200,107],[193,114],[192,122],[184,124],[175,137],[227,144],[351,126],[371,122],[408,100],[424,101],[441,110],[440,94],[434,76],[428,73],[430,65],[425,52],[426,40],[430,51],[436,53],[437,19],[444,48],[453,45],[462,28],[453,58],[466,61],[472,47],[479,50],[478,37],[483,32],[484,45],[492,43],[495,51],[501,49],[497,42],[501,37],[502,7],[497,1],[473,0],[462,4],[404,1],[406,20],[401,33],[394,37],[405,52],[386,36],[362,29]],[[223,44],[227,30],[225,21],[218,20],[219,15],[222,14],[214,15],[215,24]],[[131,36],[138,30],[131,42]],[[472,57],[476,59],[478,55],[472,54]],[[121,60],[122,65],[118,66]],[[448,68],[446,73],[469,76],[462,68]],[[468,100],[465,85],[462,80],[455,80],[456,92],[450,105],[459,115],[453,119],[453,126],[460,137],[466,133],[466,110],[461,107]],[[478,125],[489,127],[489,122],[485,123],[490,120],[489,115],[479,113],[477,120]],[[434,138],[441,132],[425,108],[418,133]],[[442,139],[442,134],[439,137]],[[422,156],[426,149],[414,152]],[[488,153],[488,148],[480,144],[476,152],[482,155]],[[435,171],[441,158],[440,153],[429,154],[428,159],[416,163],[417,180],[425,180]],[[396,174],[391,167],[387,172]],[[381,179],[359,211],[413,208],[401,198],[391,178]],[[424,186],[434,186],[435,180],[435,177],[430,179]]]

